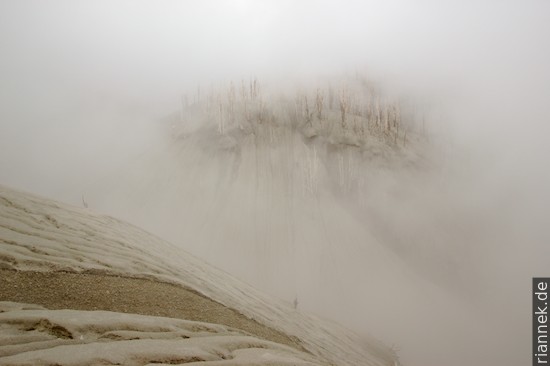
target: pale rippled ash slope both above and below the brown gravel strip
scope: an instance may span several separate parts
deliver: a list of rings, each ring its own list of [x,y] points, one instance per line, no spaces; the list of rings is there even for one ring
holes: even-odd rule
[[[135,226],[5,187],[0,187],[0,268],[176,284],[296,337],[309,352],[221,325],[3,302],[2,365],[398,363],[392,350],[377,340],[296,310]]]

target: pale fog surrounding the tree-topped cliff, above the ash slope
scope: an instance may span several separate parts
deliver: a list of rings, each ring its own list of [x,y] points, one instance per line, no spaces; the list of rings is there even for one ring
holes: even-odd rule
[[[2,1],[0,184],[86,200],[394,344],[405,365],[526,364],[531,277],[550,255],[549,14],[532,0]],[[349,155],[364,205],[334,192],[329,155],[318,196],[290,201],[283,150],[264,176],[243,145],[229,184],[233,157],[205,153],[207,134],[172,146],[159,127],[213,85],[292,93],[355,74],[419,101],[432,146],[419,170]]]

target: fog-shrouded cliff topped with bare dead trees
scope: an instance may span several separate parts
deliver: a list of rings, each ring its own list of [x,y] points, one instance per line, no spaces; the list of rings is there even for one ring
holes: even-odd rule
[[[477,308],[490,283],[477,246],[494,233],[469,206],[460,169],[476,167],[422,108],[362,80],[196,91],[157,125],[162,143],[87,186],[90,204],[301,309],[409,344],[406,358],[443,362],[458,342],[474,362],[498,346],[480,342],[497,325]],[[436,325],[419,338],[426,319]]]

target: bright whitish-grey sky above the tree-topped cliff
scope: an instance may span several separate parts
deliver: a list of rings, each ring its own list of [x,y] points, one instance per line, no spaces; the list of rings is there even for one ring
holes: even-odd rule
[[[113,125],[127,135],[121,114],[152,119],[182,91],[250,76],[358,70],[445,105],[447,123],[460,121],[455,138],[538,139],[550,114],[549,14],[544,0],[3,0],[0,178],[30,189],[50,155],[65,169],[70,142],[112,147]]]

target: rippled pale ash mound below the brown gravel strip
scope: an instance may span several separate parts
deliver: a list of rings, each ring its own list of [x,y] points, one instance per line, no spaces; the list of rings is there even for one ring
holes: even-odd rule
[[[314,365],[311,355],[221,325],[0,302],[0,365]]]

